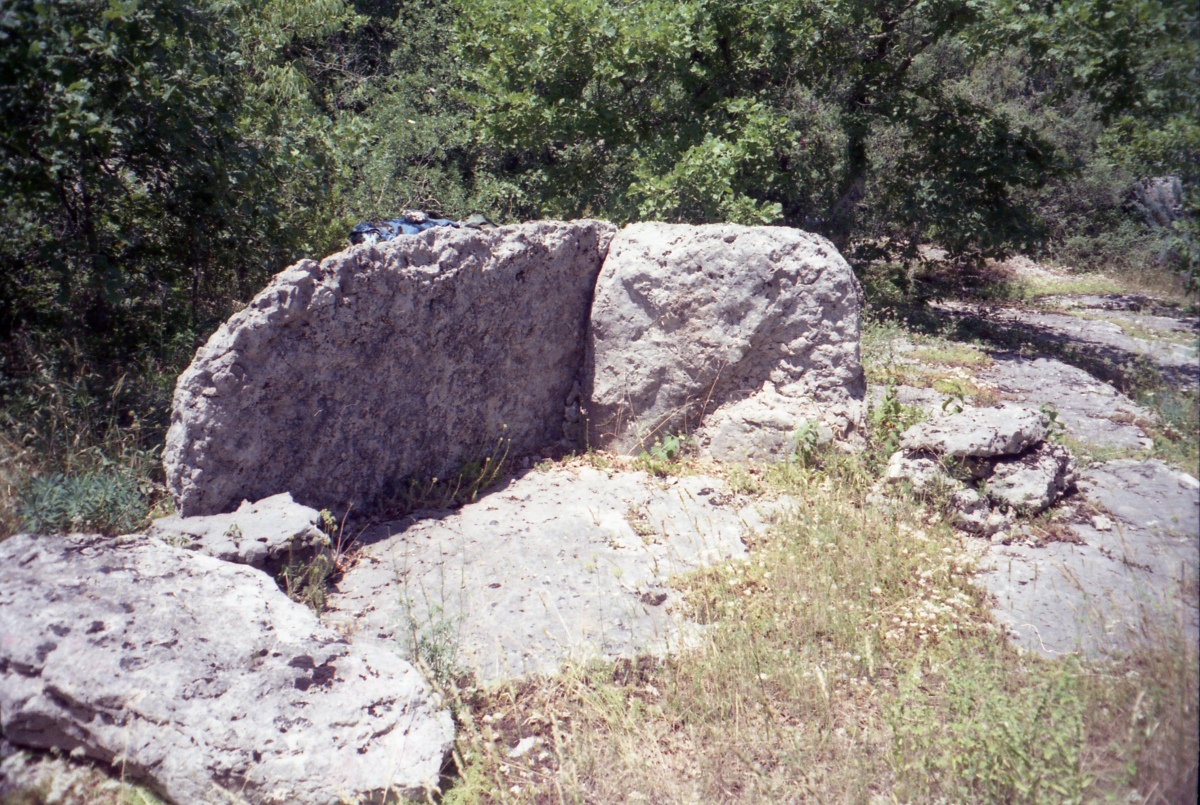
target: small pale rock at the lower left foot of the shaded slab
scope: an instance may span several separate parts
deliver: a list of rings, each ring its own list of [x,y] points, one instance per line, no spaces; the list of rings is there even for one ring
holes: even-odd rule
[[[242,500],[228,515],[156,519],[146,534],[188,551],[274,572],[290,558],[312,555],[328,539],[320,513],[301,506],[287,492],[258,503]]]

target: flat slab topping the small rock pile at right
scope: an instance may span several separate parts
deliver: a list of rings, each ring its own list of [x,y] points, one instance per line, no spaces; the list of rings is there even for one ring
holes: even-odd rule
[[[911,452],[989,458],[1016,455],[1045,435],[1045,416],[1037,409],[970,408],[954,416],[913,425],[901,434],[900,446]]]

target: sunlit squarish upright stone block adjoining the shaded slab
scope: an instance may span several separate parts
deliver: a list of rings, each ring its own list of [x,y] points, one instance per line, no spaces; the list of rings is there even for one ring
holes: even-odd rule
[[[779,455],[804,422],[860,427],[858,284],[829,241],[784,227],[641,223],[592,307],[593,446],[637,452],[697,425],[718,459]]]

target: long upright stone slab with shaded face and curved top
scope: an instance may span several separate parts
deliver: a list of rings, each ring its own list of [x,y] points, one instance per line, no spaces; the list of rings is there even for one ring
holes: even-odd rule
[[[613,232],[439,228],[277,275],[179,379],[163,463],[181,513],[280,492],[362,511],[502,435],[558,441]]]

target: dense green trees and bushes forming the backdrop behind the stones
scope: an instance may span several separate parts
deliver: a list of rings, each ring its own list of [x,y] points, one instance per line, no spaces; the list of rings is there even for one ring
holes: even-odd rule
[[[217,322],[403,208],[1194,271],[1198,32],[1192,0],[0,0],[5,439],[73,411],[149,449]],[[1129,194],[1163,175],[1171,232]]]

